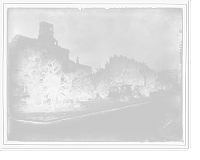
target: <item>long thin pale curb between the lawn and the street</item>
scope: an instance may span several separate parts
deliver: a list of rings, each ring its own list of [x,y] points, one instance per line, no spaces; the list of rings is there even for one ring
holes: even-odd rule
[[[154,101],[158,101],[158,100],[162,100],[162,99],[166,99],[166,98],[169,98],[169,97],[160,97],[160,98],[155,98],[155,99],[151,99],[151,100],[146,100],[146,101],[143,101],[143,102],[132,103],[132,104],[128,104],[128,105],[113,107],[113,108],[109,108],[109,109],[103,109],[103,110],[89,112],[89,113],[82,113],[82,114],[78,114],[78,115],[74,115],[74,116],[58,118],[58,119],[53,119],[53,120],[49,120],[49,121],[21,119],[21,118],[12,118],[12,117],[10,117],[9,119],[10,120],[15,120],[15,121],[48,124],[48,123],[54,123],[54,122],[62,121],[62,120],[75,119],[75,118],[84,117],[84,116],[88,116],[88,115],[94,115],[94,114],[99,114],[99,113],[105,113],[105,112],[109,112],[109,111],[119,110],[119,109],[123,109],[123,108],[128,108],[130,106],[138,106],[138,105],[141,105],[141,104],[146,104],[146,103],[150,103],[150,102],[154,102]]]

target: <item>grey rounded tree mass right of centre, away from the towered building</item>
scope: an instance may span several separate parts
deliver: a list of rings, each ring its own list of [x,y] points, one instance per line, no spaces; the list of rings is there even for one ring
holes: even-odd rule
[[[99,75],[106,75],[111,79],[112,85],[121,86],[123,84],[143,85],[144,78],[139,73],[140,69],[143,69],[146,64],[136,62],[134,59],[128,59],[124,56],[114,55],[106,63],[105,69],[99,70]],[[149,69],[150,70],[150,69]],[[154,87],[155,73],[150,70],[150,74],[147,76],[147,84],[150,87]]]

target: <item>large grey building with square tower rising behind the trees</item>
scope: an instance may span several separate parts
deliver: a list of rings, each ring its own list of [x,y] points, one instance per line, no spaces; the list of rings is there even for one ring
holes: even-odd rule
[[[20,47],[27,50],[27,47],[39,48],[43,56],[54,56],[62,62],[62,70],[64,73],[75,72],[76,63],[69,59],[69,49],[62,48],[58,45],[58,41],[54,38],[53,25],[47,22],[39,23],[38,38],[29,38],[22,35],[16,35],[8,45],[10,55],[14,56],[14,50]],[[79,65],[79,67],[91,70],[90,66]]]

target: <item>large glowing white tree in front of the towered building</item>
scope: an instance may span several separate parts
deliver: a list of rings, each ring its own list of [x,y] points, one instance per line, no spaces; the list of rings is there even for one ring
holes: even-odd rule
[[[42,56],[38,48],[31,46],[26,50],[17,47],[14,52],[15,65],[10,67],[11,77],[15,83],[27,88],[27,103],[34,106],[47,104],[54,109],[62,93],[61,63],[54,57]]]

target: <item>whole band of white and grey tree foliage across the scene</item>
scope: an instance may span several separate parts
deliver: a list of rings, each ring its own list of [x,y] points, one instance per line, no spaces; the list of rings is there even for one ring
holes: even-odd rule
[[[65,104],[66,100],[73,100],[74,106],[80,106],[78,101],[95,98],[97,93],[101,98],[107,98],[110,86],[116,86],[115,90],[120,92],[123,84],[135,86],[144,83],[143,77],[139,74],[144,64],[123,56],[114,55],[105,69],[100,68],[96,74],[91,74],[89,68],[79,64],[75,73],[64,74],[61,62],[53,57],[43,57],[38,48],[28,46],[23,50],[18,47],[15,55],[10,56],[11,84],[14,82],[27,88],[29,104],[46,105],[50,109]],[[150,88],[155,86],[154,80],[155,73],[151,71],[147,79]],[[12,90],[13,85],[11,92]],[[141,94],[149,96],[149,88],[142,87]],[[122,99],[128,98],[124,95]]]

